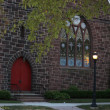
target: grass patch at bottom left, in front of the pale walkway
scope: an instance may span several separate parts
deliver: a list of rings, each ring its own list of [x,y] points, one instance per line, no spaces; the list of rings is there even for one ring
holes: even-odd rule
[[[2,108],[5,110],[54,110],[43,106],[6,106]]]

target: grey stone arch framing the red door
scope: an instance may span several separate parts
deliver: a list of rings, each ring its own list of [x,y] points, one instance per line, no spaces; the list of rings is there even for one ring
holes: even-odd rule
[[[16,52],[9,60],[8,65],[7,65],[7,73],[8,73],[8,89],[11,90],[11,69],[14,64],[14,62],[20,58],[23,57],[29,62],[29,65],[31,67],[31,91],[34,90],[34,73],[36,72],[36,64],[34,58],[31,56],[30,53],[27,53],[25,51],[18,51]]]

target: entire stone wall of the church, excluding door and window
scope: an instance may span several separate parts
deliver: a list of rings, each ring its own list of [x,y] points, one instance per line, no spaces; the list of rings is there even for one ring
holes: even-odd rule
[[[13,20],[26,19],[30,10],[19,6],[18,0],[5,0],[3,5],[7,11],[6,16]],[[110,86],[110,16],[87,21],[91,36],[91,53],[98,53],[97,61],[97,90],[107,89]],[[0,21],[2,22],[2,21]],[[47,30],[41,25],[40,33]],[[41,64],[35,62],[37,53],[30,53],[30,42],[27,41],[28,31],[25,30],[24,38],[20,36],[20,28],[10,32],[0,39],[0,89],[10,89],[11,67],[20,57],[26,57],[32,69],[32,91],[40,93],[43,86],[48,90],[61,90],[75,85],[80,89],[91,90],[93,85],[93,60],[90,68],[70,68],[60,66],[60,39],[53,41],[54,48],[48,56],[42,58]],[[37,38],[40,40],[39,38]],[[92,59],[92,56],[91,56]],[[39,86],[41,86],[39,88]]]

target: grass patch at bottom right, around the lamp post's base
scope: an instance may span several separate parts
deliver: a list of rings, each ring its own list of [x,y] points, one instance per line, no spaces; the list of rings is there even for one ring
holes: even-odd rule
[[[81,105],[79,108],[83,108],[85,110],[93,110],[90,108],[90,105]],[[110,110],[110,105],[99,105],[95,110]]]

